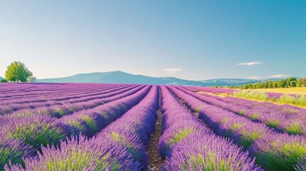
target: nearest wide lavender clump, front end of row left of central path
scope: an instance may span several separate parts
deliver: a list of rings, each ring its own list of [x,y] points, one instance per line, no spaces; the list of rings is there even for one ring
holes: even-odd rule
[[[96,140],[80,135],[61,142],[61,147],[43,147],[37,157],[24,159],[22,165],[6,165],[5,170],[137,170],[129,152],[111,138]]]

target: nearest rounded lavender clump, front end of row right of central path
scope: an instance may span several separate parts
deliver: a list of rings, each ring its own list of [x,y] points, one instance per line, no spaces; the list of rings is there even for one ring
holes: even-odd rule
[[[261,170],[248,152],[232,142],[208,134],[192,134],[173,145],[163,170]]]

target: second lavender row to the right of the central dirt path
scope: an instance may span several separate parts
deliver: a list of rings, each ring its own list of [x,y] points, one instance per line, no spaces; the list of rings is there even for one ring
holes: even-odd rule
[[[265,170],[294,170],[306,156],[306,138],[301,135],[276,133],[267,125],[204,103],[177,88],[169,87],[184,103],[199,112],[215,133],[230,138],[248,149],[256,163]]]

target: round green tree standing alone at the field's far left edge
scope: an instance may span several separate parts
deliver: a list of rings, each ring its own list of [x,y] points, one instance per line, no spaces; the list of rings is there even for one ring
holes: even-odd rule
[[[28,68],[24,65],[24,63],[21,63],[19,61],[14,61],[7,67],[7,70],[5,72],[5,78],[6,81],[11,82],[26,82],[26,79],[30,76],[33,76],[33,73],[29,71]]]

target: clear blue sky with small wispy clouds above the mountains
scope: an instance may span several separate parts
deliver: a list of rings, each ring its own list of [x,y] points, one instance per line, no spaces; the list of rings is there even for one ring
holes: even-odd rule
[[[0,76],[306,76],[306,1],[0,1]]]

